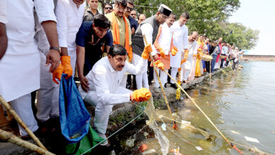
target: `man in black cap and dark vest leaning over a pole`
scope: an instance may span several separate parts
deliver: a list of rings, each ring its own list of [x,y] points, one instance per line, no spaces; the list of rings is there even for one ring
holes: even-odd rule
[[[145,35],[148,44],[154,44],[157,39],[157,33],[159,30],[159,25],[163,24],[170,16],[171,9],[164,4],[161,4],[159,10],[154,16],[147,18],[138,26],[138,30],[133,36],[133,63],[137,64],[141,58],[142,50],[145,46],[145,41],[143,40],[143,35]],[[152,46],[153,52],[152,56],[156,59],[157,51],[154,46]],[[157,60],[156,60],[157,61]],[[153,70],[154,71],[154,70]],[[147,77],[147,66],[143,68],[142,72],[136,75],[136,82],[138,89],[140,87],[149,88],[148,77]],[[142,85],[143,84],[143,85]]]

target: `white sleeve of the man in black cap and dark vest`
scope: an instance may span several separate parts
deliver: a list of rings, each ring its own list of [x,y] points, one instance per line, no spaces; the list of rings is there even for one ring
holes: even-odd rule
[[[152,25],[150,25],[149,23],[145,23],[145,24],[141,25],[140,28],[141,28],[142,35],[145,35],[145,37],[147,39],[147,43],[151,44],[151,46],[152,46],[152,50],[153,50],[152,51],[152,56],[156,55],[157,54],[157,49],[154,47],[154,44],[152,44],[152,42],[153,42],[153,31],[154,31]]]

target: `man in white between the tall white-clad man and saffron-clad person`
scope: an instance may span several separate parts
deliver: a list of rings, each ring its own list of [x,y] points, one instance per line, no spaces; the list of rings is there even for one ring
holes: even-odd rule
[[[183,63],[183,81],[188,80],[188,76],[190,74],[190,71],[193,67],[193,56],[197,54],[197,49],[199,48],[199,45],[196,42],[197,38],[197,32],[191,32],[191,34],[188,37],[188,58]]]

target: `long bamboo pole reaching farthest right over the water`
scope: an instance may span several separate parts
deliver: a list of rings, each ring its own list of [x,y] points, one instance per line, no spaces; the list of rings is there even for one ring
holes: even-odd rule
[[[187,92],[185,92],[185,90],[183,89],[183,87],[181,87],[181,85],[178,85],[178,83],[176,82],[175,79],[173,79],[173,77],[166,71],[164,70],[164,72],[169,75],[169,77],[173,80],[173,82],[176,83],[176,85],[181,88],[181,90],[184,92],[184,94],[192,101],[192,103],[197,107],[197,109],[200,110],[200,112],[202,112],[202,114],[207,118],[207,120],[214,126],[214,128],[219,132],[219,134],[221,135],[221,137],[224,138],[224,140],[233,148],[236,149],[240,154],[242,154],[242,151],[240,151],[235,145],[233,145],[231,142],[229,142],[226,137],[224,136],[223,133],[221,133],[221,131],[216,127],[216,125],[214,125],[214,123],[212,122],[212,120],[210,120],[210,118],[207,116],[206,113],[204,113],[204,111],[202,111],[202,109],[200,109],[200,106],[198,106],[196,104],[196,102],[187,94]]]

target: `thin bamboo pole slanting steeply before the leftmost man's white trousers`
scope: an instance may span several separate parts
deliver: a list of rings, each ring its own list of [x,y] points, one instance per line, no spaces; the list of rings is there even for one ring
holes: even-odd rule
[[[44,147],[44,145],[42,144],[42,142],[40,142],[38,140],[38,138],[35,136],[35,134],[33,134],[33,132],[27,127],[27,125],[20,118],[20,116],[18,116],[16,111],[14,111],[11,108],[11,106],[5,101],[5,99],[3,97],[1,97],[1,95],[0,95],[0,103],[3,104],[6,107],[6,109],[8,109],[8,111],[10,111],[11,115],[13,115],[13,117],[16,119],[16,121],[22,126],[22,128],[24,128],[24,130],[27,132],[27,134],[30,135],[30,137],[32,137],[32,140],[34,140],[38,144],[39,147],[41,147],[44,150],[47,150],[46,147]]]

